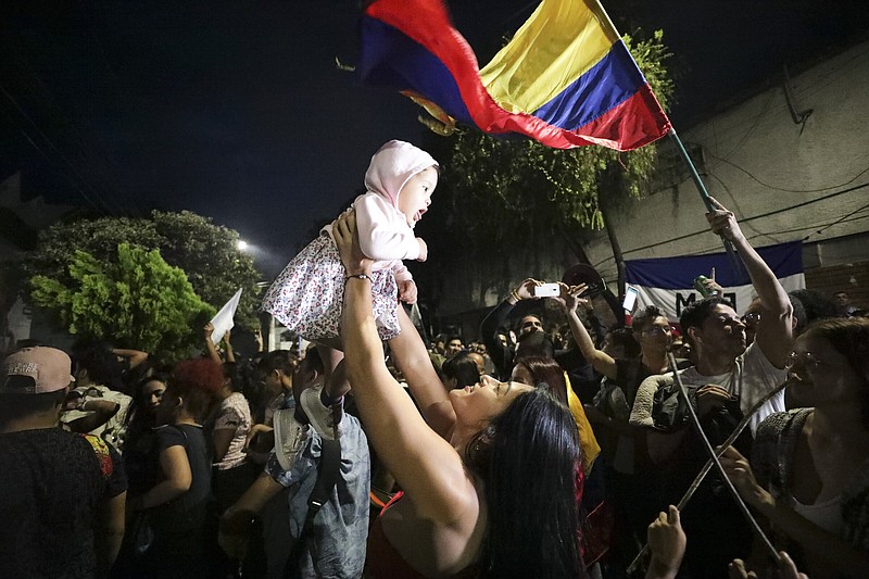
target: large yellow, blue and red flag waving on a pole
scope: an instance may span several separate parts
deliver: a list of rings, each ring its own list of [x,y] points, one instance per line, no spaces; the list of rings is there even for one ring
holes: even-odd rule
[[[482,70],[442,0],[375,0],[356,72],[444,123],[519,133],[557,149],[630,151],[670,121],[596,0],[543,0]]]

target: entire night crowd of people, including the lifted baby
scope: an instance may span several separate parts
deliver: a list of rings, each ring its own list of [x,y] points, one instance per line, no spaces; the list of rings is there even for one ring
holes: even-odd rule
[[[585,286],[538,298],[529,278],[467,347],[426,343],[401,260],[425,260],[437,180],[408,143],[375,154],[369,192],[267,294],[304,350],[237,357],[209,325],[171,366],[104,343],[11,352],[0,575],[869,576],[869,318],[847,295],[824,314],[785,292],[714,202],[745,312],[709,280],[678,326],[644,304],[607,328]],[[541,300],[561,319],[516,307]],[[707,442],[721,469],[681,502]]]

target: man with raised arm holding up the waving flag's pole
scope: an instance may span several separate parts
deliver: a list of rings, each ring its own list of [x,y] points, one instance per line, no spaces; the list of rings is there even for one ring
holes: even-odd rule
[[[681,370],[680,375],[693,392],[692,403],[715,445],[730,435],[742,415],[784,382],[784,362],[794,338],[793,307],[788,293],[745,239],[733,213],[713,201],[716,210],[706,215],[711,231],[733,244],[752,278],[760,306],[751,345],[746,344],[745,324],[740,315],[720,298],[692,304],[680,318],[683,336],[697,361],[696,366]],[[748,318],[752,323],[753,317]],[[643,381],[631,412],[632,425],[660,428],[663,416],[653,413],[654,395],[660,388],[670,391],[675,388],[672,375]],[[766,416],[784,410],[784,397],[779,392],[752,416],[748,423],[752,435]],[[677,424],[670,425],[669,432],[650,430],[648,435],[650,455],[659,465],[659,488],[664,489],[660,500],[673,504],[706,461],[702,441],[682,419],[677,416]],[[751,438],[743,443],[751,444]],[[685,564],[692,576],[727,577],[727,564],[751,550],[752,533],[739,509],[726,492],[714,492],[708,479],[692,499],[682,524],[691,537]]]

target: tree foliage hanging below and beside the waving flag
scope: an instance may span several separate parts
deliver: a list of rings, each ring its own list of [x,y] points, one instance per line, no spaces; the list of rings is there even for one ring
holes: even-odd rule
[[[669,54],[663,39],[660,30],[640,42],[625,37],[666,109],[673,86],[664,66]],[[464,236],[463,244],[482,251],[555,235],[576,242],[578,230],[603,228],[602,196],[607,207],[615,207],[642,194],[656,154],[654,144],[628,153],[603,147],[557,150],[529,139],[457,131],[445,176],[453,192],[452,230]]]

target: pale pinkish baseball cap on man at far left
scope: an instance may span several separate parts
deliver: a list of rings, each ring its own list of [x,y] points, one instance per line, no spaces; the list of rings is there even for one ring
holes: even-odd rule
[[[75,381],[72,361],[54,348],[24,348],[7,356],[0,394],[42,394],[63,390]]]

